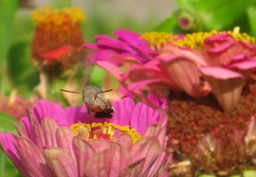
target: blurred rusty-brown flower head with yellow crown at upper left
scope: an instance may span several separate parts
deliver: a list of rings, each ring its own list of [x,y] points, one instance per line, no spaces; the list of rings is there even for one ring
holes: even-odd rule
[[[32,62],[50,76],[58,76],[83,57],[84,44],[80,23],[85,20],[77,7],[45,7],[31,13],[35,22]]]

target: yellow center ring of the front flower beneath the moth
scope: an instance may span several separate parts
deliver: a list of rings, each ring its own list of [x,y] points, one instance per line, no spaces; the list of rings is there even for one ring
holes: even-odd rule
[[[120,126],[112,123],[104,122],[102,123],[92,123],[92,128],[96,128],[96,130],[91,133],[91,125],[85,123],[76,123],[70,125],[70,129],[72,129],[77,136],[84,138],[85,140],[90,139],[106,139],[110,140],[114,136],[120,135],[122,133],[128,133],[132,136],[132,144],[135,144],[138,140],[141,139],[141,134],[138,133],[135,129],[130,129],[130,126]]]

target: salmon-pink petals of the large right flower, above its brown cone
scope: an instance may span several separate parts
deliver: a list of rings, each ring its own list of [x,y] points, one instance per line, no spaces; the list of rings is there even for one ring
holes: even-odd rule
[[[200,50],[167,43],[144,64],[127,59],[120,52],[105,55],[95,64],[151,106],[156,107],[143,90],[160,98],[167,98],[169,90],[186,92],[193,98],[212,92],[223,111],[230,112],[240,98],[245,77],[256,69],[255,51],[255,45],[237,41],[228,33],[218,33],[207,37]],[[115,62],[124,66],[126,72]]]

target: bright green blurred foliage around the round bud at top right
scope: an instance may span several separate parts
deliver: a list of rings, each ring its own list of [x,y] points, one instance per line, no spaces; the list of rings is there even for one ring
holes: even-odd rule
[[[253,16],[252,13],[255,13],[252,7],[256,4],[256,0],[176,0],[176,2],[178,10],[162,22],[156,31],[171,33],[211,31],[213,29],[225,31],[240,26],[243,32],[251,32],[249,24],[252,27],[253,20],[248,20],[247,15]],[[184,13],[191,14],[195,28],[182,30],[178,19]]]

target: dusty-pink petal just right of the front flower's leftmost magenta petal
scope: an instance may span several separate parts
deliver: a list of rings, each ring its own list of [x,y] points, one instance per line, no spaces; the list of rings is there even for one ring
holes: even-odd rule
[[[30,176],[50,176],[50,171],[46,166],[41,150],[28,139],[18,138],[18,141],[17,152]]]

